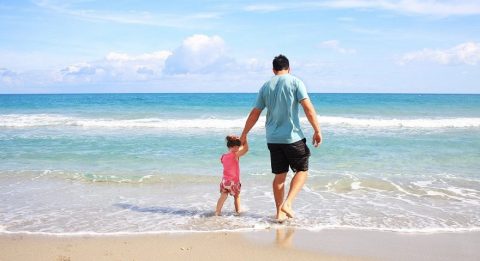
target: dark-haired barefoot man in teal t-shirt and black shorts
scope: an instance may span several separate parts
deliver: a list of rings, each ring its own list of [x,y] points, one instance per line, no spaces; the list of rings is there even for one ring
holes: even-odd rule
[[[315,147],[322,142],[322,134],[313,107],[303,82],[290,74],[287,57],[279,55],[273,59],[275,74],[260,89],[255,107],[250,112],[240,140],[245,142],[248,132],[258,121],[264,108],[267,108],[265,123],[267,145],[270,150],[270,161],[273,179],[273,195],[277,208],[276,219],[293,218],[292,203],[302,189],[308,175],[308,158],[310,150],[300,128],[298,117],[299,104],[302,105],[308,121],[313,127],[312,144]],[[290,190],[284,201],[285,179],[288,168],[295,172],[290,182]]]

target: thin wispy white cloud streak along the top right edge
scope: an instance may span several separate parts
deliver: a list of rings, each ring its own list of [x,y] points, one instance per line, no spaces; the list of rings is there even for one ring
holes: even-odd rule
[[[374,9],[405,14],[452,16],[478,15],[480,2],[476,0],[335,0],[295,3],[254,4],[244,8],[252,12],[274,12],[298,9]]]

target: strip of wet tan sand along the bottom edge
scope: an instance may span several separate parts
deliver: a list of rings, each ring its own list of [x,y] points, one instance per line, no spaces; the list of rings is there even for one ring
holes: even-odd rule
[[[52,236],[4,234],[0,260],[478,260],[480,233],[361,230]]]

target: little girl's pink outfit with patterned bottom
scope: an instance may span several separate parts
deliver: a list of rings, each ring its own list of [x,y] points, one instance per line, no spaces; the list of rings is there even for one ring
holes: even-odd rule
[[[240,164],[235,152],[222,155],[223,178],[220,183],[220,193],[230,193],[232,196],[240,194]]]

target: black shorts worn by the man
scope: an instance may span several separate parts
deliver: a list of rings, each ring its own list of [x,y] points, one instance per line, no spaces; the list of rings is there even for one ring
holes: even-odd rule
[[[272,173],[286,173],[289,166],[293,172],[308,170],[310,149],[306,139],[291,144],[268,143],[267,145],[270,150]]]

